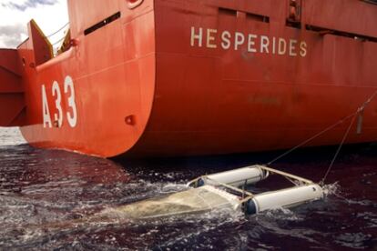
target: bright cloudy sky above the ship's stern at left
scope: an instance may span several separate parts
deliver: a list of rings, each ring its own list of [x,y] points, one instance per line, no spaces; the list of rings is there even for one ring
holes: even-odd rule
[[[31,19],[45,35],[53,34],[68,23],[66,0],[0,0],[0,48],[15,48],[22,43]],[[59,41],[65,31],[52,35],[50,41]]]

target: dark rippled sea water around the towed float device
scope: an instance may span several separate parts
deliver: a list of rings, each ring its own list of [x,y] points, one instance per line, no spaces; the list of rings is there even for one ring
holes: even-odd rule
[[[272,167],[317,182],[335,150],[298,150]],[[377,250],[373,144],[343,148],[325,198],[290,210],[139,221],[114,216],[82,224],[101,210],[181,191],[197,176],[279,154],[109,160],[36,149],[16,128],[0,128],[0,250]]]

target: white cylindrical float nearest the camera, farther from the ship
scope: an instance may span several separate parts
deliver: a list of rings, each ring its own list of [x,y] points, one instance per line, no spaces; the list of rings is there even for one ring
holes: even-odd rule
[[[299,206],[322,197],[323,190],[317,184],[297,186],[254,196],[246,203],[245,209],[247,214],[252,215],[269,209]]]

